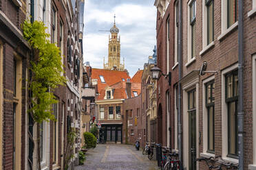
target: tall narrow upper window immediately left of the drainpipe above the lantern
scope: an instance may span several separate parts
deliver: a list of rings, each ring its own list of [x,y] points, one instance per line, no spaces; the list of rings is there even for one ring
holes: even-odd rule
[[[174,29],[174,64],[178,63],[178,26],[179,26],[179,6],[178,1],[175,1],[175,29]]]

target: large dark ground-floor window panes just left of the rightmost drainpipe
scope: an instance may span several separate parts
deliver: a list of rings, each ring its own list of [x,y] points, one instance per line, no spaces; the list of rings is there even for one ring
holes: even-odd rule
[[[237,158],[237,104],[238,74],[232,71],[225,75],[226,104],[228,106],[228,156]]]

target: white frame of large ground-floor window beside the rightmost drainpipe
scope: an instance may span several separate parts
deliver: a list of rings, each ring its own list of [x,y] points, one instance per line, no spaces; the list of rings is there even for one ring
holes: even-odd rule
[[[226,104],[225,82],[226,73],[238,68],[238,64],[233,64],[222,71],[222,159],[238,163],[238,159],[227,157],[228,154],[228,105]]]

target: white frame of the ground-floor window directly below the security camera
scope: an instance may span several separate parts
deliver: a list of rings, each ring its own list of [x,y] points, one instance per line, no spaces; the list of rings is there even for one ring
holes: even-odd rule
[[[211,156],[215,156],[215,154],[211,154],[209,152],[207,152],[208,149],[208,110],[206,108],[206,88],[205,85],[208,82],[211,82],[212,80],[215,80],[215,75],[212,75],[211,77],[206,78],[206,80],[204,80],[202,82],[202,117],[203,117],[203,121],[202,121],[202,141],[203,141],[203,150],[202,153],[200,153],[200,156],[204,156],[206,158],[209,158]]]

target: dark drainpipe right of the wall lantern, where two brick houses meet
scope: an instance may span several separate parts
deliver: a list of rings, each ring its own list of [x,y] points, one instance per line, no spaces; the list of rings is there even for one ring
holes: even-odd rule
[[[178,63],[179,63],[179,80],[182,79],[182,0],[179,0],[179,21],[178,21]],[[178,82],[178,149],[179,160],[182,162],[182,121],[181,121],[181,84]],[[180,164],[180,169],[182,168]]]

